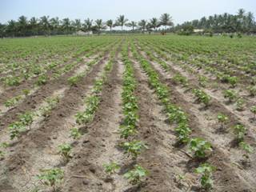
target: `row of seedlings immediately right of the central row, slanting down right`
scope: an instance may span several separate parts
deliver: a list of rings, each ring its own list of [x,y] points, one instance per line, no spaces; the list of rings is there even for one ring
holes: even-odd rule
[[[176,126],[174,131],[178,140],[177,144],[188,144],[194,159],[206,158],[206,156],[213,150],[210,142],[207,142],[203,138],[190,138],[192,130],[190,129],[186,113],[179,106],[174,105],[170,101],[170,91],[168,87],[160,81],[158,73],[152,68],[150,62],[144,59],[142,55],[138,54],[134,44],[131,46],[131,51],[134,58],[138,60],[142,66],[142,70],[144,70],[149,77],[150,86],[155,90],[158,99],[165,107],[170,122],[174,123]],[[208,190],[213,187],[212,174],[214,170],[214,166],[210,165],[208,162],[202,163],[195,169],[196,173],[201,174],[200,183],[203,189]]]

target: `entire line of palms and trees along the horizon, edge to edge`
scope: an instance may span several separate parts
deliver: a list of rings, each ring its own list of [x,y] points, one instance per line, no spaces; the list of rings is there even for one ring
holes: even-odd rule
[[[124,15],[118,16],[116,20],[110,19],[103,22],[102,19],[95,21],[87,18],[83,22],[81,19],[70,20],[70,18],[50,18],[42,16],[41,18],[26,18],[21,16],[17,21],[10,20],[6,24],[0,23],[0,37],[27,37],[34,35],[60,35],[74,34],[78,31],[93,32],[100,34],[107,30],[108,33],[120,32],[113,30],[114,27],[128,27],[126,32],[151,32],[156,30],[170,31],[175,33],[191,34],[194,29],[204,30],[210,33],[256,33],[256,22],[252,12],[246,13],[246,10],[239,9],[238,14],[214,14],[209,17],[195,19],[191,22],[184,22],[181,25],[174,26],[170,14],[162,14],[160,18],[142,19],[139,22],[129,21]],[[162,28],[160,28],[162,27]]]

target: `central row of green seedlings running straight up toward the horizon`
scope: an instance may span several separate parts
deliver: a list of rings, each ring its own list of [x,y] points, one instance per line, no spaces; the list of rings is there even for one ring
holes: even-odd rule
[[[128,42],[122,46],[122,62],[124,63],[125,70],[123,72],[123,84],[122,84],[122,124],[119,126],[120,138],[124,139],[124,142],[118,145],[124,151],[124,154],[128,154],[128,158],[131,157],[134,162],[133,168],[127,170],[124,177],[128,179],[130,184],[142,186],[145,182],[146,176],[149,174],[148,170],[138,164],[138,155],[143,150],[148,149],[146,143],[135,139],[138,133],[138,98],[135,96],[134,91],[137,88],[137,82],[134,77],[134,68],[132,62],[128,58]],[[110,162],[103,165],[106,174],[114,174],[121,168],[116,162]]]

